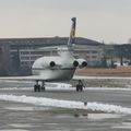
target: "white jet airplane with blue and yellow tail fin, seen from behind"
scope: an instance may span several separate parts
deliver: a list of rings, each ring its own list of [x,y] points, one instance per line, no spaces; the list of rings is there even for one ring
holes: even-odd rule
[[[45,91],[45,82],[68,82],[70,81],[76,68],[85,68],[87,61],[83,58],[76,59],[72,55],[72,47],[75,45],[76,17],[72,17],[70,37],[66,47],[58,48],[59,56],[48,56],[38,58],[32,66],[29,76],[0,78],[3,80],[26,80],[35,81],[34,92]],[[40,82],[40,84],[39,84]],[[79,80],[76,92],[83,91],[83,83]]]

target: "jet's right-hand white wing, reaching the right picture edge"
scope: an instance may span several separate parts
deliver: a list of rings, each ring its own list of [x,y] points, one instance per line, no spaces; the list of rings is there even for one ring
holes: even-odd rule
[[[80,75],[74,75],[73,80],[131,80],[131,76],[80,76]]]

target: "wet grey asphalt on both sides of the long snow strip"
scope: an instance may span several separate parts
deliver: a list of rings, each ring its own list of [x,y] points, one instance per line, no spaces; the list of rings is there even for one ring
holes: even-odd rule
[[[68,100],[87,100],[131,108],[131,90],[47,90],[34,93],[33,83],[0,81],[0,95],[26,95]],[[15,88],[16,87],[16,88]],[[27,88],[23,88],[27,87]],[[90,111],[75,116],[73,110],[0,100],[0,131],[130,131],[131,115]]]

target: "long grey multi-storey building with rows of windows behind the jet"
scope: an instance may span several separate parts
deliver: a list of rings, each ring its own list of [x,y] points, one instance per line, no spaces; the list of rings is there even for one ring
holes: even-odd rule
[[[3,52],[1,56],[4,55],[4,57],[2,57],[4,59],[0,59],[0,61],[1,63],[7,61],[7,64],[11,67],[11,72],[20,72],[20,69],[27,69],[28,71],[37,58],[57,55],[57,50],[50,50],[46,47],[66,46],[67,43],[68,37],[2,38],[0,39],[0,49],[2,50],[1,52]],[[3,51],[3,46],[5,51]],[[76,58],[81,56],[86,59],[88,66],[100,64],[100,60],[104,57],[104,44],[78,37],[73,55]],[[3,64],[1,67],[3,67]]]

